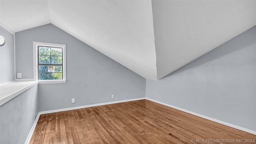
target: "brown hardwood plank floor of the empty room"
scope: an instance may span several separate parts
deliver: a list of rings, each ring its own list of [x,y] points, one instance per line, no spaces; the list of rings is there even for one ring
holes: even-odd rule
[[[256,144],[256,135],[137,100],[42,114],[30,144],[223,144],[247,139]]]

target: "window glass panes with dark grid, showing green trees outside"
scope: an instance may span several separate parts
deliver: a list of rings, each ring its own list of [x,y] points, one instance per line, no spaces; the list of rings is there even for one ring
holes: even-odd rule
[[[62,48],[38,46],[38,80],[63,80]]]

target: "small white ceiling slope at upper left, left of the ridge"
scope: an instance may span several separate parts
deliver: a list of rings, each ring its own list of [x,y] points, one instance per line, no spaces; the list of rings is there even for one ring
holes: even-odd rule
[[[47,1],[0,0],[0,20],[13,32],[49,24]]]

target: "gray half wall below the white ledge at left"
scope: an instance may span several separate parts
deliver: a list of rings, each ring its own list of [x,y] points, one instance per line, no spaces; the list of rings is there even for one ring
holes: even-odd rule
[[[0,143],[24,144],[38,114],[38,85],[0,106]]]

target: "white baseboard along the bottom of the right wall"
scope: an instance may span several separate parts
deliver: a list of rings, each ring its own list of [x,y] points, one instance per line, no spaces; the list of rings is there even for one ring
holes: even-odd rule
[[[214,118],[210,118],[210,117],[204,116],[204,115],[202,115],[202,114],[198,114],[198,113],[195,113],[195,112],[191,112],[191,111],[189,111],[189,110],[184,110],[184,109],[182,109],[182,108],[178,108],[178,107],[172,106],[172,105],[170,105],[170,104],[166,104],[166,103],[163,103],[163,102],[159,102],[159,101],[157,101],[157,100],[152,100],[152,99],[150,99],[150,98],[146,98],[146,100],[150,100],[150,101],[152,101],[152,102],[156,102],[156,103],[158,103],[158,104],[162,104],[162,105],[164,105],[164,106],[168,106],[168,107],[174,108],[174,109],[176,109],[176,110],[180,110],[180,111],[183,111],[183,112],[186,112],[186,113],[189,113],[189,114],[193,114],[193,115],[195,115],[195,116],[199,116],[199,117],[201,117],[201,118],[205,118],[205,119],[207,119],[207,120],[210,120],[210,121],[213,121],[213,122],[217,122],[217,123],[219,123],[219,124],[223,124],[223,125],[229,126],[229,127],[231,127],[231,128],[236,128],[236,129],[238,129],[238,130],[242,130],[242,131],[244,131],[244,132],[248,132],[248,133],[251,133],[251,134],[255,134],[255,135],[256,135],[256,131],[254,131],[254,130],[249,130],[249,129],[247,129],[247,128],[243,128],[243,127],[241,127],[241,126],[236,126],[236,125],[230,124],[230,123],[228,123],[228,122],[223,122],[223,121],[221,121],[221,120],[216,120],[216,119],[214,119]]]

